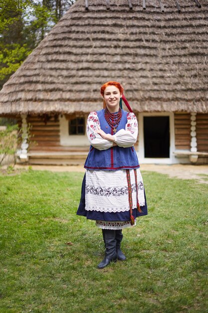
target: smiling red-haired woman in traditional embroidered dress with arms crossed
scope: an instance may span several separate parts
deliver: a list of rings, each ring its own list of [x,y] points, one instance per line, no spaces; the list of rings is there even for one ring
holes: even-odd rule
[[[117,81],[101,86],[104,108],[93,111],[87,119],[90,151],[85,161],[86,173],[78,215],[96,220],[102,228],[104,268],[111,261],[125,260],[121,251],[122,229],[135,225],[136,217],[147,214],[143,180],[134,144],[138,123]],[[121,109],[121,98],[130,112]]]

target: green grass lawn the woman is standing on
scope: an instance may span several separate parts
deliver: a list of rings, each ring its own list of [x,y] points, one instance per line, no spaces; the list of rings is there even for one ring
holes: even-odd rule
[[[83,173],[0,175],[0,313],[208,312],[208,184],[143,172],[149,214],[103,270]]]

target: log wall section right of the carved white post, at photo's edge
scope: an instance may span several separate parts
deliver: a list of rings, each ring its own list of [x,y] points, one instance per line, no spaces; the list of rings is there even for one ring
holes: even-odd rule
[[[197,149],[208,152],[208,114],[197,114]]]

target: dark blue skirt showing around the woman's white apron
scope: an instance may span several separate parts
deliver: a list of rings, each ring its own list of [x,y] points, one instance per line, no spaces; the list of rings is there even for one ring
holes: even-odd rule
[[[81,199],[79,207],[77,210],[77,215],[86,216],[88,219],[94,220],[104,220],[104,221],[127,221],[130,220],[130,211],[124,212],[100,212],[96,210],[86,210],[85,209],[85,184],[86,184],[86,174],[84,175],[82,181],[81,189]],[[145,190],[144,190],[145,195]],[[140,206],[142,212],[139,212],[137,208],[133,208],[133,216],[136,218],[138,216],[147,215],[147,201],[145,195],[145,205]]]

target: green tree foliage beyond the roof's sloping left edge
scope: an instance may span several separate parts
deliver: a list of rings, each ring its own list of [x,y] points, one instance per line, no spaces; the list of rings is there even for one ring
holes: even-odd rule
[[[0,0],[0,88],[73,0]]]

